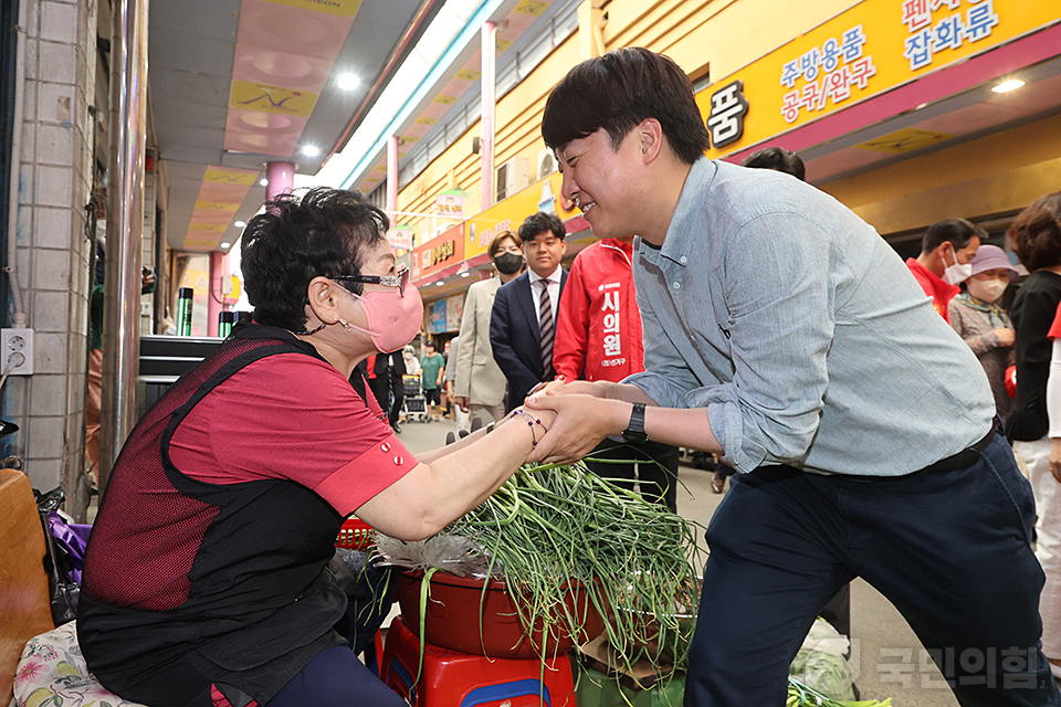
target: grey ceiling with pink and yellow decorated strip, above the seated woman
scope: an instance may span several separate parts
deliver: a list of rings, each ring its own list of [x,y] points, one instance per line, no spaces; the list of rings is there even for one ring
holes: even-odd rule
[[[153,3],[148,82],[159,159],[169,176],[167,233],[172,247],[210,251],[219,249],[222,236],[231,242],[231,222],[250,218],[261,207],[264,189],[259,180],[267,161],[292,160],[297,171],[315,173],[354,116],[364,114],[386,86],[385,68],[397,68],[397,60],[416,43],[442,0],[330,4],[339,10],[316,11],[325,6],[311,0]],[[342,72],[356,74],[360,86],[340,91],[335,78]],[[266,89],[255,94],[261,86]],[[374,86],[376,93],[370,92]],[[259,97],[265,94],[267,98]],[[231,107],[240,96],[249,103]],[[254,109],[261,107],[255,97],[265,104],[263,109]],[[294,104],[303,109],[285,115],[282,108]],[[303,144],[321,147],[322,154],[298,154]],[[234,211],[195,210],[211,167],[253,175]],[[221,231],[224,214],[230,215],[229,225]],[[217,235],[213,245],[207,243],[209,233]]]

